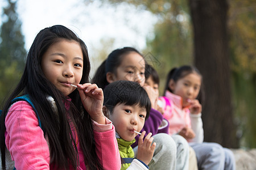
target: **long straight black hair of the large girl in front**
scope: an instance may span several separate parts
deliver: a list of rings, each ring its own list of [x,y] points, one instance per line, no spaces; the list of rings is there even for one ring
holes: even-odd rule
[[[84,69],[82,71],[80,83],[83,84],[89,82],[90,62],[88,50],[84,41],[63,25],[54,25],[52,27],[42,29],[38,35],[36,35],[28,52],[26,67],[22,78],[3,107],[0,124],[2,169],[6,169],[5,118],[10,107],[11,100],[20,94],[28,94],[32,103],[35,105],[36,111],[38,111],[44,135],[47,134],[49,140],[51,163],[56,165],[59,169],[69,169],[69,164],[71,164],[74,169],[77,168],[77,164],[79,163],[79,154],[69,123],[71,120],[77,130],[86,167],[89,169],[102,169],[102,165],[96,155],[90,116],[84,107],[82,107],[79,92],[76,89],[68,95],[72,100],[67,100],[67,96],[64,96],[59,90],[57,90],[46,76],[44,76],[41,68],[43,54],[46,53],[49,46],[61,40],[76,41],[80,44],[84,57]],[[47,101],[47,96],[52,96],[55,100],[58,114],[53,114],[51,104]],[[65,109],[65,103],[67,102],[70,104],[70,109],[68,111]]]

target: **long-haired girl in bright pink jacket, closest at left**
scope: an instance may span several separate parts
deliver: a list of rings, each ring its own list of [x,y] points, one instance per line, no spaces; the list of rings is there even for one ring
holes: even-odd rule
[[[5,146],[17,169],[121,168],[114,126],[102,113],[103,92],[86,83],[89,71],[86,46],[70,29],[54,25],[38,33],[3,108],[2,169]],[[20,94],[34,107],[11,105]]]

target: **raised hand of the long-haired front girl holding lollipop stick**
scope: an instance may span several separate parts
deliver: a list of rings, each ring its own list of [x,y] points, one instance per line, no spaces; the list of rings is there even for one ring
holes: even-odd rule
[[[102,89],[98,88],[96,84],[91,83],[77,84],[77,87],[82,105],[84,105],[84,108],[90,114],[92,120],[98,122],[98,124],[105,125],[106,120],[102,112],[104,101]]]

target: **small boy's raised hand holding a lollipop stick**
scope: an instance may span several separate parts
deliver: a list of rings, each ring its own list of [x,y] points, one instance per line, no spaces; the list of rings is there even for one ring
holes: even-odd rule
[[[148,133],[143,141],[145,134],[146,131],[143,131],[141,136],[139,137],[137,158],[148,165],[153,158],[156,143],[154,142],[151,146],[151,143],[154,139],[153,137],[151,137],[152,133]]]

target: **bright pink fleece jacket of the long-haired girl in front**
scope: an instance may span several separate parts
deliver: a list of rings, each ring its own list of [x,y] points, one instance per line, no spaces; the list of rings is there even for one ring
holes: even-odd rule
[[[100,125],[93,121],[96,153],[104,169],[120,169],[115,129],[108,118],[106,123],[107,125]],[[15,161],[16,169],[53,169],[49,163],[47,140],[30,104],[26,101],[14,103],[6,116],[5,125],[5,143]],[[79,141],[77,150],[80,159],[78,169],[86,169]]]

